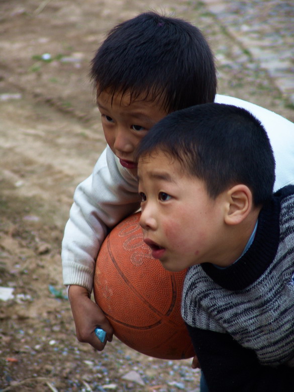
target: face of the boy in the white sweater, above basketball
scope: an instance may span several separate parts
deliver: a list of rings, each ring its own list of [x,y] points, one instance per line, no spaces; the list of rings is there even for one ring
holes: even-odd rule
[[[105,139],[121,165],[135,175],[137,163],[134,161],[134,151],[138,143],[155,123],[167,115],[165,110],[160,109],[160,101],[142,97],[130,101],[129,93],[119,93],[112,101],[106,90],[97,99]]]

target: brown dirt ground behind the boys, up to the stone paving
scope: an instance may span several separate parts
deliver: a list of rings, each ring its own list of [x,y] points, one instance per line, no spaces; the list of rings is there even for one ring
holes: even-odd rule
[[[201,28],[217,53],[219,92],[289,120],[294,111],[206,8],[143,0],[0,2],[0,390],[197,391],[191,360],[164,361],[118,340],[78,343],[64,299],[60,247],[76,185],[105,147],[88,80],[109,28],[146,10]],[[130,373],[131,372],[131,373]]]

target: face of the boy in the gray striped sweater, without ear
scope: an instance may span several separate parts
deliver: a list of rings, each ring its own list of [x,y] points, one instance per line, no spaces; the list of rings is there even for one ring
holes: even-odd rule
[[[211,199],[202,180],[186,175],[180,163],[163,152],[140,157],[138,175],[140,225],[153,257],[169,271],[220,264],[226,246],[221,235],[223,194]]]

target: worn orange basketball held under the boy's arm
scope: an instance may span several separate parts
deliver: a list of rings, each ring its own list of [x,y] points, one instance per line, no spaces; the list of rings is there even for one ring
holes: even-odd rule
[[[151,255],[140,213],[117,225],[96,261],[94,298],[123,343],[162,359],[194,355],[180,315],[185,271],[168,272]]]

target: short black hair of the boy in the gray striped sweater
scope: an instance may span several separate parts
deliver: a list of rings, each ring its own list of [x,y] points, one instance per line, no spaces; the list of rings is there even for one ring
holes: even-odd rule
[[[243,108],[210,103],[169,114],[142,139],[136,159],[158,151],[204,180],[213,199],[238,183],[250,188],[255,206],[273,192],[275,161],[268,136]]]

